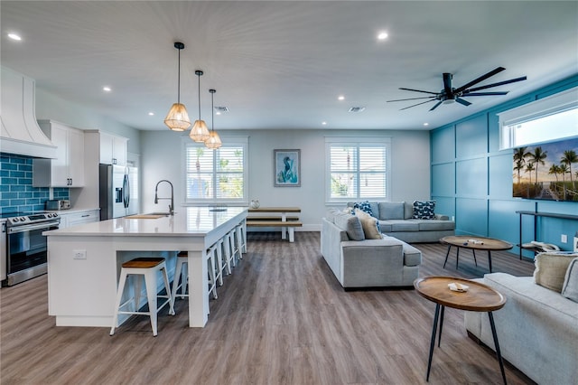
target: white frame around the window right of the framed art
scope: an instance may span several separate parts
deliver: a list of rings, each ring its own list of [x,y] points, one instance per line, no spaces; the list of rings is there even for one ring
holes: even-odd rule
[[[385,148],[386,151],[386,170],[385,170],[385,183],[386,196],[375,196],[375,197],[364,197],[359,198],[359,189],[356,192],[355,197],[345,197],[345,198],[331,198],[331,146],[356,146],[359,147],[380,147]],[[356,164],[357,170],[356,174],[360,174],[359,170],[360,162]],[[327,136],[325,137],[325,202],[326,204],[342,204],[343,202],[352,202],[359,200],[373,200],[373,201],[389,201],[391,197],[391,137],[390,136]]]

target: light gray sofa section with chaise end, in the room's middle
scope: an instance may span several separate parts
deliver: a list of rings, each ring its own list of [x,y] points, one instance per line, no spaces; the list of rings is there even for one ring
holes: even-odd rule
[[[359,218],[336,209],[322,219],[321,251],[344,288],[412,286],[422,263],[421,251],[402,240],[364,239]]]

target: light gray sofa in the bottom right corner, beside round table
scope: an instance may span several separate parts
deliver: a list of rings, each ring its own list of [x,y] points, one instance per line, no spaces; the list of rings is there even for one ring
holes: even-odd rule
[[[506,297],[494,312],[502,357],[539,384],[578,379],[578,303],[536,285],[534,277],[486,274],[478,282]],[[495,350],[486,313],[465,312],[468,333]]]

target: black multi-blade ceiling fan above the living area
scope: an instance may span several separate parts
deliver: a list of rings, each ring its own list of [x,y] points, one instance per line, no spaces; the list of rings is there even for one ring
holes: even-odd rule
[[[498,83],[487,84],[485,86],[474,87],[472,89],[470,88],[471,86],[474,86],[474,85],[480,83],[481,81],[486,80],[486,79],[496,75],[497,73],[501,72],[502,70],[506,70],[506,69],[504,67],[498,67],[495,70],[490,70],[485,75],[480,76],[480,78],[475,79],[475,80],[471,80],[469,83],[466,83],[457,89],[454,89],[452,87],[453,75],[451,73],[444,72],[443,73],[443,89],[440,92],[424,91],[421,89],[400,88],[400,89],[405,89],[406,91],[415,91],[415,92],[423,92],[426,94],[432,94],[433,96],[422,97],[422,98],[387,100],[387,102],[416,100],[416,99],[429,99],[429,100],[425,100],[421,103],[417,103],[417,104],[414,104],[414,105],[406,107],[406,108],[401,108],[400,111],[403,109],[419,106],[421,104],[428,103],[428,102],[434,101],[434,100],[438,100],[438,102],[435,103],[435,105],[432,108],[430,108],[430,111],[433,111],[435,108],[438,108],[438,106],[442,103],[452,103],[454,101],[460,103],[463,106],[470,106],[471,102],[469,102],[468,100],[465,100],[465,99],[461,99],[461,98],[464,98],[464,97],[469,98],[469,97],[474,97],[474,96],[506,95],[508,93],[508,91],[493,91],[493,92],[476,92],[476,91],[480,91],[481,89],[491,89],[492,87],[498,87],[498,86],[502,86],[504,84],[515,83],[517,81],[526,80],[526,76],[522,76],[521,78],[499,81]]]

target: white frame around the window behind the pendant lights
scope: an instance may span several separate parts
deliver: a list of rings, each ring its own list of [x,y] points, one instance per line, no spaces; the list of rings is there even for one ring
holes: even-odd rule
[[[222,205],[222,204],[230,204],[236,206],[247,206],[248,204],[248,172],[247,172],[247,161],[248,161],[248,136],[220,136],[221,141],[223,142],[222,147],[242,147],[243,148],[243,196],[238,199],[218,199],[216,197],[216,193],[214,194],[214,198],[210,199],[187,199],[187,148],[197,148],[204,146],[202,143],[193,142],[189,136],[182,137],[182,197],[183,197],[183,206],[212,206],[212,205]],[[207,151],[214,151],[219,150],[211,150],[210,148],[205,147]],[[214,155],[213,155],[214,156]],[[216,173],[216,166],[217,163],[213,162],[213,171],[212,171],[212,178],[214,180],[215,173]],[[214,188],[216,188],[217,184],[213,183]],[[216,191],[214,191],[216,192]]]

